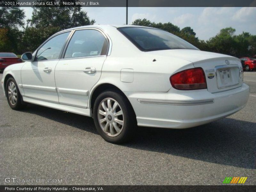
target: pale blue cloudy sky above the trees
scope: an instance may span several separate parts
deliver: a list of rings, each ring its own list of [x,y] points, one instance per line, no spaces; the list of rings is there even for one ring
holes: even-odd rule
[[[23,7],[26,19],[32,15],[31,7]],[[97,24],[125,24],[126,7],[82,7]],[[136,19],[152,22],[171,22],[180,27],[191,27],[196,36],[208,40],[220,29],[232,27],[236,35],[243,31],[256,35],[256,7],[129,7],[128,24]]]

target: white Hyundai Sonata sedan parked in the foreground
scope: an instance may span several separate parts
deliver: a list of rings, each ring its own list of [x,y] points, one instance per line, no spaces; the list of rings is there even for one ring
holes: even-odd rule
[[[92,116],[107,141],[136,125],[189,128],[229,116],[249,97],[238,58],[204,52],[166,31],[84,26],[47,39],[4,70],[12,109],[27,103]]]

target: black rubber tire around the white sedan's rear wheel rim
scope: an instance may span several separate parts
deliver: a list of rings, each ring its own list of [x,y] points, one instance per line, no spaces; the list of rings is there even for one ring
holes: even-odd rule
[[[117,133],[117,136],[109,136],[106,132],[103,131],[103,129],[100,126],[99,120],[98,120],[98,112],[99,112],[99,106],[101,102],[106,100],[107,98],[111,98],[115,100],[118,105],[120,106],[120,110],[123,111],[123,125],[122,129],[119,133]],[[113,105],[113,104],[112,104]],[[112,106],[113,107],[113,106]],[[113,119],[115,117],[113,116]],[[93,105],[93,120],[94,124],[96,126],[97,131],[99,132],[100,136],[110,142],[110,143],[124,143],[129,140],[131,140],[132,135],[134,133],[135,128],[137,127],[137,121],[135,113],[132,109],[132,106],[130,102],[127,100],[126,97],[123,96],[122,93],[115,91],[115,90],[107,90],[105,92],[102,92],[97,99],[94,102]],[[108,119],[109,120],[109,119]],[[106,122],[107,123],[107,122]],[[115,122],[113,122],[115,123]]]

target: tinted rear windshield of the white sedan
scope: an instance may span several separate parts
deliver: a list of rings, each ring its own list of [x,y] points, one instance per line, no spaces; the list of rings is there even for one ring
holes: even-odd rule
[[[142,27],[122,27],[118,30],[141,51],[166,49],[196,49],[194,45],[164,30]]]

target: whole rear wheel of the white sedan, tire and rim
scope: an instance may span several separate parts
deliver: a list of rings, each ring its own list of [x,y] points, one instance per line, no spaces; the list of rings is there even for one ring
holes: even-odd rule
[[[111,143],[128,141],[136,127],[135,114],[129,101],[116,91],[106,91],[97,97],[93,119],[101,137]]]

